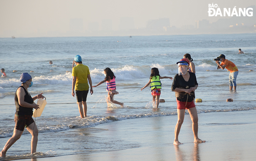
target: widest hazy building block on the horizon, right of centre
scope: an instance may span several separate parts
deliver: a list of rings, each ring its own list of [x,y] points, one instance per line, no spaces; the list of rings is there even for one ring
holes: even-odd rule
[[[167,27],[170,27],[170,20],[169,18],[160,18],[149,20],[147,24],[147,29],[152,30],[167,30]]]

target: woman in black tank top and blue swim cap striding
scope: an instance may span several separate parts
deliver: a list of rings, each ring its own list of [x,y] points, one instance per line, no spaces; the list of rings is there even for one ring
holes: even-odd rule
[[[33,108],[38,109],[38,105],[34,103],[36,99],[44,98],[41,94],[31,97],[28,93],[28,87],[31,87],[32,77],[28,73],[22,73],[20,75],[21,86],[17,89],[14,97],[16,112],[15,128],[12,137],[7,141],[3,150],[0,152],[0,157],[5,157],[6,151],[14,144],[22,135],[24,128],[26,127],[29,133],[32,135],[31,139],[31,154],[36,152],[38,129],[36,123],[34,122]]]

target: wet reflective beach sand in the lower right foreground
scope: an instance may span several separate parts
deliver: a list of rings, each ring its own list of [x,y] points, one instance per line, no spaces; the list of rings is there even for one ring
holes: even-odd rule
[[[101,130],[90,135],[98,137],[102,142],[106,140],[106,143],[111,143],[113,138],[113,141],[130,144],[132,148],[115,150],[115,147],[112,147],[108,151],[21,160],[254,161],[256,158],[255,115],[256,110],[198,114],[198,136],[206,140],[205,143],[193,143],[192,122],[189,115],[185,115],[179,135],[179,141],[183,143],[181,145],[173,145],[177,115],[110,122],[93,127]],[[124,145],[124,147],[127,146]]]

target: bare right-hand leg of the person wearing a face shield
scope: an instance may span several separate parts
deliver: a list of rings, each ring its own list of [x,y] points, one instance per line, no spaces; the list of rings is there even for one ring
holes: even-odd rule
[[[188,113],[189,113],[191,121],[192,121],[192,130],[194,133],[194,143],[205,142],[205,140],[201,140],[198,138],[198,115],[197,115],[196,107],[189,108]]]

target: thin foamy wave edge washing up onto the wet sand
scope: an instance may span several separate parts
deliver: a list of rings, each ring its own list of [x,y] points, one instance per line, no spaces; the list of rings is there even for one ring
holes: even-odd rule
[[[247,108],[233,108],[233,109],[205,109],[205,110],[197,110],[197,113],[208,113],[208,112],[231,112],[231,111],[246,111],[246,110],[256,110],[256,107],[247,107]],[[188,114],[188,112],[186,112]],[[56,132],[56,131],[64,131],[73,128],[89,128],[95,127],[99,124],[113,122],[113,121],[121,121],[126,119],[135,119],[135,118],[145,118],[145,117],[159,117],[159,116],[170,116],[177,115],[177,112],[161,112],[161,113],[148,113],[148,114],[134,114],[134,115],[110,115],[110,116],[98,116],[92,115],[86,118],[81,118],[80,116],[71,117],[71,118],[51,118],[43,119],[42,121],[47,122],[61,122],[61,124],[57,125],[46,125],[40,126],[38,123],[38,131],[41,132]],[[12,136],[13,129],[5,129],[0,132],[0,138]],[[29,132],[26,130],[23,134],[28,134]],[[22,134],[22,135],[23,135]]]

